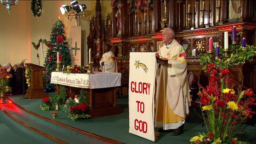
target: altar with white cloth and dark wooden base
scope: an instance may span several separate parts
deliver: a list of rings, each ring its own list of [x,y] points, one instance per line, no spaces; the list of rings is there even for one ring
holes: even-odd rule
[[[60,93],[60,85],[66,86],[67,94],[72,98],[79,94],[81,88],[88,90],[86,98],[92,118],[121,113],[120,107],[116,104],[116,87],[121,86],[121,73],[67,74],[52,72],[51,84],[56,84],[57,94]]]

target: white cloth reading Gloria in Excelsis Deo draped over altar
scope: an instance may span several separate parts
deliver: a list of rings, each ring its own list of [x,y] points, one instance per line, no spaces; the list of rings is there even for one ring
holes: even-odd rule
[[[76,88],[110,88],[121,86],[121,73],[98,72],[98,74],[51,73],[51,84],[60,84]]]

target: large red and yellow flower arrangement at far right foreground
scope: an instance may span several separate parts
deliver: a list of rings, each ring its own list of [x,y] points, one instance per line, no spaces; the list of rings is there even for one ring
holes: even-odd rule
[[[228,68],[220,68],[214,63],[206,64],[210,73],[206,88],[199,85],[201,91],[201,109],[208,134],[198,133],[190,139],[191,144],[236,144],[235,134],[242,130],[240,126],[247,118],[255,114],[256,98],[251,88],[239,90],[235,85],[230,87]],[[218,77],[217,77],[218,76]],[[235,89],[236,88],[236,89]],[[234,90],[235,89],[235,90]]]

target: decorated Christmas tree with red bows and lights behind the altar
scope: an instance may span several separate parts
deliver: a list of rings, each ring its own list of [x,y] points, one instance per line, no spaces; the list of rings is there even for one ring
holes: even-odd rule
[[[56,71],[57,67],[57,52],[59,52],[59,63],[60,69],[63,66],[71,65],[70,52],[67,46],[66,36],[64,31],[64,24],[58,18],[52,27],[50,42],[46,44],[48,46],[46,58],[44,61],[44,91],[53,92],[55,91],[55,84],[50,84],[51,72]]]

